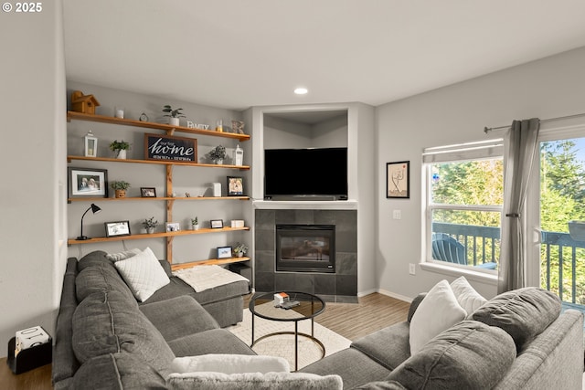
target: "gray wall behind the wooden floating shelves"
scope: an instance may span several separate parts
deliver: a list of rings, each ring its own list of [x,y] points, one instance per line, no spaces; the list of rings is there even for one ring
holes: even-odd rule
[[[149,121],[165,123],[167,120],[163,117],[161,111],[163,105],[171,104],[175,107],[182,107],[186,114],[186,119],[181,119],[181,124],[186,125],[186,121],[196,123],[206,123],[212,128],[217,119],[222,119],[224,125],[230,125],[230,121],[241,120],[241,112],[217,109],[185,101],[168,100],[157,96],[149,96],[139,93],[133,93],[124,90],[114,90],[103,88],[95,85],[83,84],[80,82],[68,81],[67,97],[70,103],[70,95],[73,90],[81,90],[84,94],[92,94],[101,105],[97,107],[96,113],[101,115],[113,116],[114,106],[122,105],[124,107],[124,118],[137,120],[142,112],[149,117]],[[225,127],[224,126],[224,127]],[[119,126],[105,123],[96,123],[90,121],[70,121],[68,123],[68,154],[83,154],[83,136],[91,130],[98,138],[98,156],[113,157],[113,152],[109,149],[109,144],[114,139],[121,139],[131,142],[132,148],[128,153],[128,158],[144,158],[144,133],[154,132],[156,130],[135,128],[130,126]],[[245,129],[246,130],[246,129]],[[186,136],[184,133],[176,133],[176,136]],[[236,140],[227,138],[218,138],[205,135],[195,136],[197,139],[198,161],[208,163],[205,154],[218,144],[226,146],[228,154],[231,156],[237,145]],[[244,149],[244,163],[248,164],[250,157],[246,151],[250,151],[250,142],[241,142],[240,146]],[[226,161],[225,163],[230,163]],[[73,161],[69,163],[70,167],[89,167],[101,168],[108,170],[108,180],[125,180],[132,184],[127,192],[127,196],[140,196],[140,187],[155,187],[156,195],[165,195],[165,166],[151,164],[134,164],[134,163],[96,163]],[[222,194],[226,195],[226,176],[236,175],[245,176],[247,173],[239,170],[216,169],[216,168],[199,168],[199,167],[174,167],[173,170],[173,189],[178,196],[184,196],[188,192],[192,196],[208,194],[211,183],[218,182],[222,184]],[[110,190],[110,197],[113,191]],[[202,200],[202,201],[176,201],[173,208],[173,222],[179,222],[182,229],[190,227],[190,218],[197,216],[201,227],[208,227],[210,219],[223,219],[224,223],[229,224],[231,219],[244,218],[245,202],[233,200]],[[91,215],[89,213],[84,218],[84,234],[90,237],[103,237],[105,235],[104,222],[128,220],[132,233],[141,233],[143,227],[141,222],[144,218],[154,216],[161,225],[157,231],[164,231],[163,222],[166,216],[166,203],[163,201],[152,202],[96,202],[102,211],[100,214]],[[73,202],[67,206],[69,228],[68,237],[77,237],[80,235],[80,217],[87,209],[87,202]],[[247,221],[248,222],[248,221]],[[216,248],[231,246],[238,241],[244,241],[250,244],[251,235],[248,232],[237,233],[214,233],[207,235],[194,235],[185,237],[176,237],[173,242],[173,262],[182,263],[186,261],[195,261],[205,258],[216,258]],[[109,252],[124,250],[125,248],[150,247],[154,254],[159,258],[165,258],[165,239],[141,239],[132,240],[124,243],[116,241],[102,244],[83,244],[75,245],[69,248],[69,256],[80,258],[92,250],[101,249]]]

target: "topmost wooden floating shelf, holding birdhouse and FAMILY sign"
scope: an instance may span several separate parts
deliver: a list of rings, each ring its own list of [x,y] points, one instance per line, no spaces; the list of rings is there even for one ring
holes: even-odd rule
[[[233,132],[216,132],[214,130],[192,129],[185,126],[172,126],[165,123],[154,123],[152,121],[135,121],[132,119],[114,118],[104,115],[85,114],[75,111],[67,111],[67,121],[96,121],[101,123],[122,124],[124,126],[142,127],[146,129],[163,130],[165,132],[186,132],[198,135],[210,135],[212,137],[233,138],[240,142],[250,140],[249,134],[237,134]]]

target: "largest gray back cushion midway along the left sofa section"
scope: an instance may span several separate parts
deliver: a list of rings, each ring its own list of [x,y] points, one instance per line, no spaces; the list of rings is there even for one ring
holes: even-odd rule
[[[106,353],[133,353],[161,374],[175,355],[135,301],[121,292],[94,292],[73,314],[73,351],[80,363]]]

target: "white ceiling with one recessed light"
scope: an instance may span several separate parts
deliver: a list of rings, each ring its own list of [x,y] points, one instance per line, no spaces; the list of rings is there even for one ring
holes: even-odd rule
[[[236,110],[376,106],[585,46],[583,0],[63,4],[68,80]]]

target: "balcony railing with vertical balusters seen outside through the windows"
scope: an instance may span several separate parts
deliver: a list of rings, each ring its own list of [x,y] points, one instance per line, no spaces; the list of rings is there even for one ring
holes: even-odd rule
[[[498,262],[500,228],[434,222],[433,233],[446,233],[465,248],[470,266]],[[561,300],[585,305],[585,241],[569,233],[543,231],[541,236],[541,287]]]

